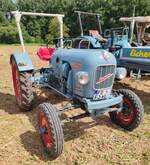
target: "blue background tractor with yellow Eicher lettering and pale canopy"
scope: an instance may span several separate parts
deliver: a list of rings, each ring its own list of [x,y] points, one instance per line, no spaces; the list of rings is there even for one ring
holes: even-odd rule
[[[124,27],[107,29],[104,33],[108,40],[107,48],[116,57],[118,67],[125,67],[128,75],[140,78],[142,73],[150,73],[150,38],[147,31],[150,17],[124,17],[120,21],[125,23]]]

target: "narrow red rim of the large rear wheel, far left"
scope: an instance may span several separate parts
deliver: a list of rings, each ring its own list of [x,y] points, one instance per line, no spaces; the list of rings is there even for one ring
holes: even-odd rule
[[[12,78],[14,85],[14,92],[17,99],[17,102],[21,102],[21,91],[20,91],[20,82],[19,82],[19,73],[17,70],[17,66],[14,62],[12,62]]]

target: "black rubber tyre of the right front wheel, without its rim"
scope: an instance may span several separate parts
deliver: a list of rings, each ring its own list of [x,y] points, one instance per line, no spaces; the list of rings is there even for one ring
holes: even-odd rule
[[[133,110],[134,118],[130,123],[124,124],[124,123],[120,122],[120,120],[118,119],[117,112],[114,111],[114,112],[109,113],[111,121],[128,131],[132,131],[135,128],[137,128],[143,120],[143,116],[144,116],[143,104],[142,104],[140,98],[131,90],[119,89],[119,90],[116,90],[115,92],[118,94],[122,94],[123,97],[127,97],[130,100],[130,102],[133,105],[133,109],[134,109]]]

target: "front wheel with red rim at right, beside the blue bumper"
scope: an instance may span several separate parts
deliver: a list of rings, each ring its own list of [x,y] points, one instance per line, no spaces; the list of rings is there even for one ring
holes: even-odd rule
[[[116,91],[123,95],[123,109],[121,112],[110,112],[112,122],[120,127],[132,131],[137,128],[143,119],[144,108],[140,98],[131,90],[120,89]]]

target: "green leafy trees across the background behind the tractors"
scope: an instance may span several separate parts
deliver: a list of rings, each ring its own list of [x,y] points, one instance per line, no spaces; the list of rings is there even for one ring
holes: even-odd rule
[[[100,13],[103,30],[120,26],[119,18],[132,16],[134,6],[136,6],[136,16],[150,15],[149,0],[14,0],[14,2],[12,0],[0,0],[0,42],[18,42],[16,25],[12,24],[12,21],[7,18],[7,12],[16,9],[20,11],[63,13],[65,14],[64,33],[66,32],[67,36],[72,37],[80,35],[75,10]],[[82,16],[82,20],[85,34],[89,29],[97,28],[96,19]],[[26,42],[45,42],[59,37],[59,26],[57,26],[56,20],[50,21],[50,18],[44,17],[22,17],[21,22]]]

